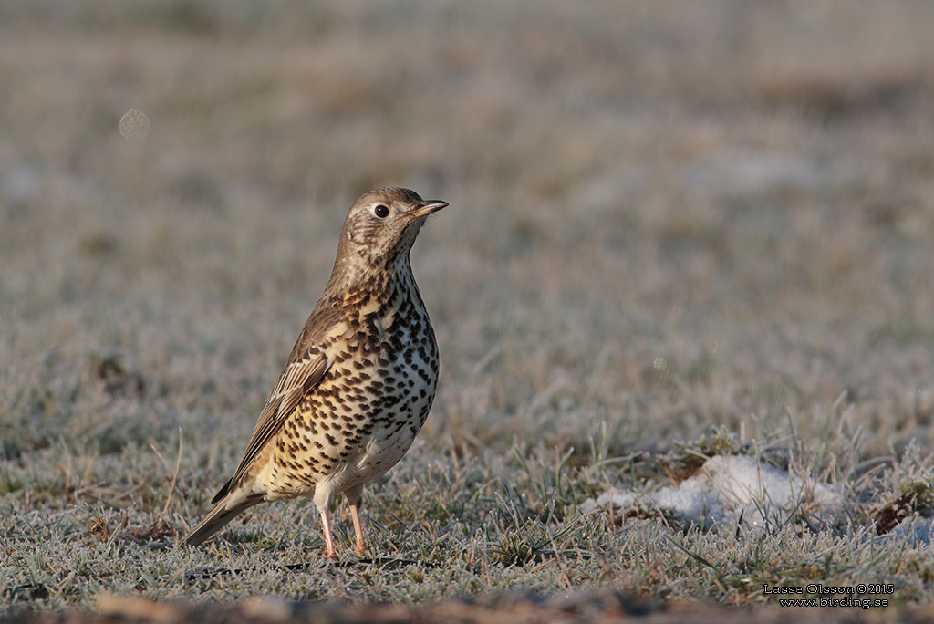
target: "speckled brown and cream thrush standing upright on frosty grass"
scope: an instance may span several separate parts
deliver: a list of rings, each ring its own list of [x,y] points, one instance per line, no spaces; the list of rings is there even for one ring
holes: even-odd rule
[[[342,493],[363,557],[363,486],[403,458],[434,401],[438,346],[409,253],[425,220],[446,206],[397,187],[350,206],[331,278],[243,458],[181,544],[201,544],[256,504],[311,497],[325,555],[337,560],[329,508]]]

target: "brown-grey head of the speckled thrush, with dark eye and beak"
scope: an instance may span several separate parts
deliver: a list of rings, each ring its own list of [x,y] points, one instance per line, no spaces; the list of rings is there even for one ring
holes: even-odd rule
[[[349,272],[362,277],[407,261],[418,230],[429,215],[445,206],[446,202],[424,200],[417,192],[398,187],[365,193],[344,220],[335,276]]]

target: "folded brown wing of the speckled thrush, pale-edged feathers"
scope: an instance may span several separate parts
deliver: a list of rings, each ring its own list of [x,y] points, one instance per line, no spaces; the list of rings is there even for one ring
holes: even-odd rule
[[[217,503],[226,496],[233,484],[247,474],[250,463],[262,447],[276,435],[302,398],[318,386],[330,365],[326,344],[331,341],[328,338],[346,331],[346,323],[341,321],[333,307],[316,306],[292,348],[289,362],[279,376],[276,387],[262,407],[240,465],[211,503]]]

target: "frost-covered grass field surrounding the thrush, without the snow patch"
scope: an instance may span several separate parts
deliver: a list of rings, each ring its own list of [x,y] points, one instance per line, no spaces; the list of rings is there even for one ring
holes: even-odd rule
[[[520,591],[783,614],[764,586],[816,584],[921,617],[932,23],[897,0],[6,2],[0,613]],[[347,207],[386,184],[450,207],[412,254],[441,386],[364,492],[371,552],[341,516],[324,560],[306,502],[175,548]],[[659,503],[733,456],[800,488],[714,526]]]

